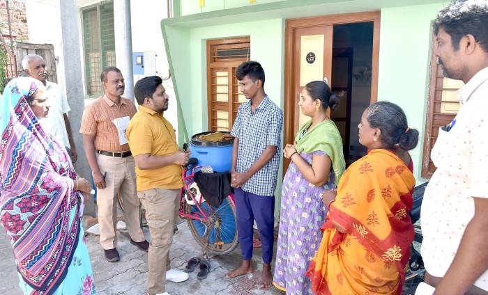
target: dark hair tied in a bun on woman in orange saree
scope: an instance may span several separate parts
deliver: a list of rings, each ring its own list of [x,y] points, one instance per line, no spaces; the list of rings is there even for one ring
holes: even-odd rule
[[[413,150],[418,143],[418,131],[410,129],[402,108],[392,102],[375,102],[367,108],[366,120],[372,128],[381,130],[381,143],[388,150],[397,146]]]

